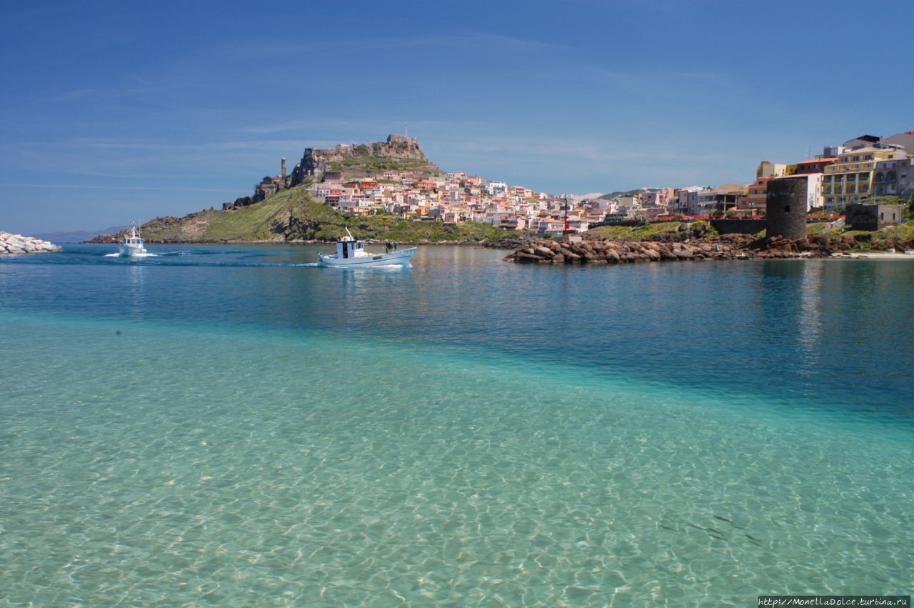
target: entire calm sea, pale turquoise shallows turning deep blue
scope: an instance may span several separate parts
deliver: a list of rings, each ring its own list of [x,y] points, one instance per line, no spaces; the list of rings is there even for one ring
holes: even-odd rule
[[[153,251],[0,259],[0,603],[745,605],[914,581],[905,261]]]

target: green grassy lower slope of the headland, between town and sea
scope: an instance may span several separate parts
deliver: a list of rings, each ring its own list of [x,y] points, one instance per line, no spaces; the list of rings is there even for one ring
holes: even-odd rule
[[[445,226],[440,221],[414,222],[390,214],[350,216],[315,202],[305,187],[307,184],[282,190],[247,207],[156,218],[141,227],[143,239],[149,243],[336,240],[346,227],[356,238],[403,242],[479,242],[508,236],[504,230],[477,222]],[[101,235],[92,242],[116,242],[123,232]]]

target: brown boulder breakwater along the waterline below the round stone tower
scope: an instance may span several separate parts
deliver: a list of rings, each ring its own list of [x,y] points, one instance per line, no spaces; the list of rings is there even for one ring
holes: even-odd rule
[[[626,264],[642,261],[768,260],[827,258],[856,247],[848,237],[811,236],[788,240],[755,239],[741,234],[677,240],[539,240],[520,247],[506,260],[548,264]]]

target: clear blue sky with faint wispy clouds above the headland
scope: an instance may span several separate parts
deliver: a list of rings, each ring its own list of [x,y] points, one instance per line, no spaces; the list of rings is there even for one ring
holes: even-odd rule
[[[761,159],[914,129],[912,17],[814,0],[0,0],[0,229],[219,207],[282,156],[407,121],[441,168],[550,193],[749,183]]]

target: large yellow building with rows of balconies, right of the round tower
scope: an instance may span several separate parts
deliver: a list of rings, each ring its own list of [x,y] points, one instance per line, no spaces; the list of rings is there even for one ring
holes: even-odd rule
[[[844,207],[873,195],[873,174],[880,160],[904,159],[893,148],[857,148],[838,156],[838,162],[824,168],[822,197],[825,208]]]

